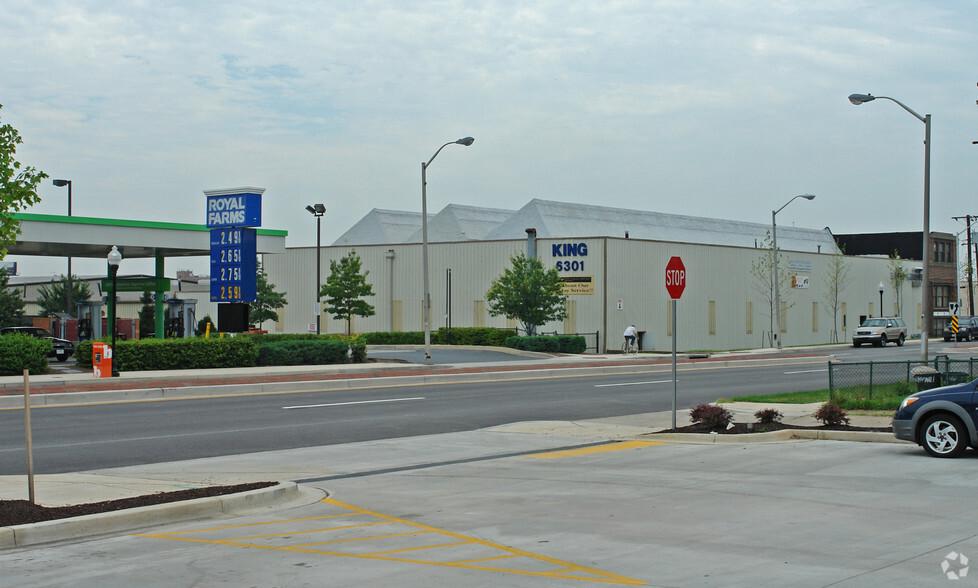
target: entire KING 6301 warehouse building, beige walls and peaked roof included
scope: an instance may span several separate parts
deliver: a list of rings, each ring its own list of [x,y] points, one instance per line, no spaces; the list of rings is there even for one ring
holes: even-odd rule
[[[420,213],[375,209],[319,248],[323,282],[330,261],[351,251],[368,272],[375,293],[368,302],[376,314],[355,317],[354,332],[424,329],[421,229]],[[597,352],[618,349],[629,324],[643,334],[644,350],[670,349],[673,332],[682,350],[770,346],[776,328],[766,277],[770,234],[771,226],[762,223],[539,199],[515,211],[451,204],[428,220],[432,329],[515,329],[515,321],[489,315],[485,294],[514,254],[535,250],[545,268],[557,269],[568,296],[567,318],[539,325],[538,332],[585,334]],[[919,337],[919,261],[895,262],[910,279],[894,291],[894,262],[886,255],[842,256],[828,228],[778,226],[777,242],[788,274],[780,291],[783,345],[844,342],[861,320],[881,313],[903,316],[910,336]],[[686,268],[675,324],[664,277],[672,257]],[[948,264],[955,267],[953,260]],[[263,267],[289,304],[276,324],[262,327],[315,332],[317,248],[265,255]],[[840,267],[847,269],[841,280],[833,278]],[[345,332],[345,322],[325,313],[320,318],[323,332]]]

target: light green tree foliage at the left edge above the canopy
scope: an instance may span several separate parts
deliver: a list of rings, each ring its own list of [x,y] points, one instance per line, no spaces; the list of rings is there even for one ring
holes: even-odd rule
[[[0,104],[0,109],[3,105]],[[9,124],[0,125],[0,259],[20,234],[20,223],[13,214],[41,201],[37,186],[48,177],[33,167],[21,169],[15,159],[20,133]]]

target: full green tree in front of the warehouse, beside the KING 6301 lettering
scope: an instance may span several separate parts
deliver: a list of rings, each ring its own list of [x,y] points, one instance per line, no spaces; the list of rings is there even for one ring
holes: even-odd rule
[[[509,258],[506,268],[486,292],[489,314],[515,319],[527,333],[537,325],[567,317],[567,296],[556,268],[543,269],[543,262],[519,253]]]

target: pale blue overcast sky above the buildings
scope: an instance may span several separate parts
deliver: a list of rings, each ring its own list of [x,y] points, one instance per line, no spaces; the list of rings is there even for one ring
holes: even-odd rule
[[[328,244],[373,208],[420,212],[421,163],[472,136],[428,169],[429,213],[541,198],[770,223],[811,193],[778,225],[920,231],[925,125],[852,93],[933,116],[932,230],[978,214],[973,1],[4,6],[0,120],[21,163],[72,180],[76,216],[203,224],[204,190],[256,186],[290,247],[325,204]],[[39,195],[30,212],[67,212],[65,188]]]

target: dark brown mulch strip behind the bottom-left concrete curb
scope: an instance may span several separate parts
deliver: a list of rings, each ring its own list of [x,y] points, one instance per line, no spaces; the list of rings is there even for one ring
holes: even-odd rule
[[[152,506],[154,504],[165,504],[167,502],[177,502],[180,500],[193,500],[195,498],[207,498],[210,496],[224,496],[225,494],[235,494],[237,492],[247,492],[275,486],[278,482],[251,482],[249,484],[234,484],[231,486],[209,486],[207,488],[192,488],[189,490],[176,490],[173,492],[158,492],[156,494],[146,494],[144,496],[133,496],[132,498],[120,498],[118,500],[106,500],[104,502],[92,502],[89,504],[72,504],[68,506],[41,506],[31,504],[27,500],[0,500],[0,527],[13,525],[26,525],[29,523],[39,523],[41,521],[52,521],[55,519],[66,519],[70,517],[80,517],[88,514],[100,514],[136,508],[139,506]]]

